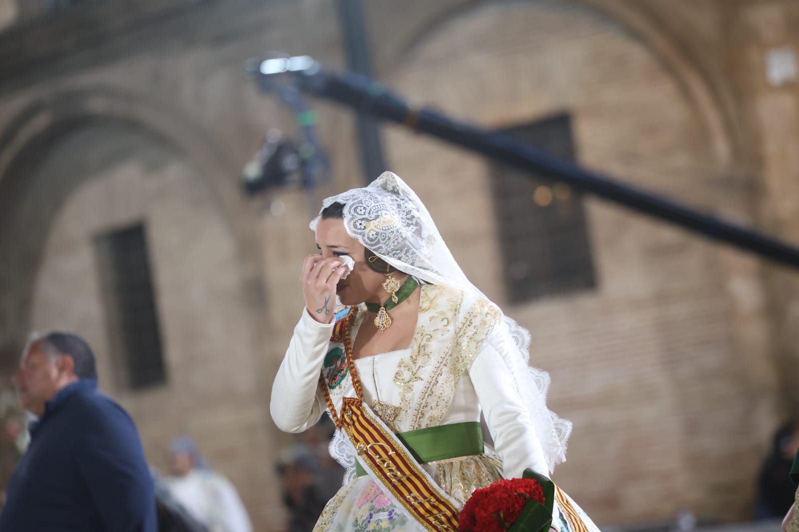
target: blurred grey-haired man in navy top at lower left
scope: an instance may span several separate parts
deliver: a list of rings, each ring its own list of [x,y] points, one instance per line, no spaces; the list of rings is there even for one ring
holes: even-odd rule
[[[11,476],[0,530],[156,532],[136,426],[97,390],[89,344],[66,332],[35,338],[14,384],[38,420]]]

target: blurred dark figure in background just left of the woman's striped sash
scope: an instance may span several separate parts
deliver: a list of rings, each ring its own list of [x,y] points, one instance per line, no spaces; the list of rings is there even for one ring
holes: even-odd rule
[[[288,509],[288,532],[310,532],[324,505],[344,480],[344,468],[328,451],[335,427],[326,416],[300,434],[296,442],[280,453],[283,502]]]

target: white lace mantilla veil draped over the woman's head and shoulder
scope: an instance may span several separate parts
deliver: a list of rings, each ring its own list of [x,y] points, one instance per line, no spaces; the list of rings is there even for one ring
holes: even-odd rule
[[[344,204],[344,227],[349,236],[401,272],[431,284],[441,284],[485,297],[467,279],[419,197],[392,172],[384,172],[363,189],[328,197],[322,208]],[[316,230],[321,212],[311,222]],[[514,376],[527,404],[550,472],[566,461],[571,422],[547,408],[550,376],[530,365],[530,332],[503,313],[499,345],[495,345]],[[330,454],[347,469],[344,484],[355,475],[355,450],[340,431],[330,443]]]

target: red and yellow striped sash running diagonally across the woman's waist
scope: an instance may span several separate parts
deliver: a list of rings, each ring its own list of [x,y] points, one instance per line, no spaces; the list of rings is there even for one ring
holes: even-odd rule
[[[360,399],[345,398],[341,416],[361,463],[408,514],[430,532],[458,530],[459,510],[442,494],[396,436]]]

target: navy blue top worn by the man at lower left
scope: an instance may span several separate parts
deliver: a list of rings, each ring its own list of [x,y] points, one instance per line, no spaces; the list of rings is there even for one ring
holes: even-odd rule
[[[157,532],[133,419],[81,379],[51,399],[8,485],[0,532]]]

